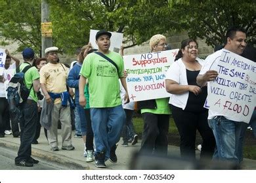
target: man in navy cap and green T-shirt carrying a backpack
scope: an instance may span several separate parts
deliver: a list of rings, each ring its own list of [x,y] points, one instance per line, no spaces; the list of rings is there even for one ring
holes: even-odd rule
[[[35,53],[32,48],[25,48],[22,52],[24,63],[20,65],[20,71],[28,65],[32,65]],[[39,73],[35,67],[30,67],[24,75],[26,88],[30,89],[30,95],[26,103],[20,106],[20,148],[18,156],[15,158],[15,165],[22,167],[32,167],[33,163],[39,163],[38,160],[31,157],[31,144],[35,137],[35,128],[37,125],[37,92],[40,89]]]

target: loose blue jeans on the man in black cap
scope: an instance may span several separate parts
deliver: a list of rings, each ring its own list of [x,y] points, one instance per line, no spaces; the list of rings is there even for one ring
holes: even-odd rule
[[[96,154],[106,152],[110,158],[110,148],[120,139],[125,111],[121,105],[107,108],[91,108],[91,122],[95,135]]]

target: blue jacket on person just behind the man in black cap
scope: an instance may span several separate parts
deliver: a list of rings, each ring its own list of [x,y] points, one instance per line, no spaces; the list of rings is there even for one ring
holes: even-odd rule
[[[74,67],[70,70],[68,74],[67,84],[70,88],[75,88],[75,104],[79,104],[79,78],[80,78],[80,70],[81,70],[81,63],[76,63]]]

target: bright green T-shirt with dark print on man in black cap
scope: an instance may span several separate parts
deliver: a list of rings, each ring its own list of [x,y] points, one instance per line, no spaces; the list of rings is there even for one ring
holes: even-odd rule
[[[116,52],[106,56],[112,59],[117,67],[98,54],[89,54],[83,61],[80,75],[88,78],[90,107],[116,107],[121,105],[119,78],[123,76],[123,58]]]

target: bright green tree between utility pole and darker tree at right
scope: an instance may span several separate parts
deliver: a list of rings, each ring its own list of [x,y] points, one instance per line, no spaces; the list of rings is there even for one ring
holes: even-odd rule
[[[128,48],[156,33],[179,28],[168,16],[171,10],[166,0],[49,0],[49,3],[56,42],[67,52],[86,44],[90,29],[123,33],[123,43]]]

